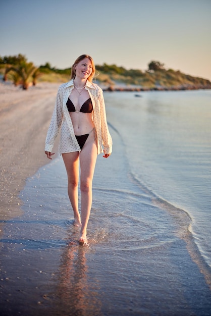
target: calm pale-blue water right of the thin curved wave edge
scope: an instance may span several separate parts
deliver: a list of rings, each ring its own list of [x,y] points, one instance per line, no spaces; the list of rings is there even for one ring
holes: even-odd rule
[[[189,230],[211,266],[211,91],[120,97],[115,127],[124,139],[132,174],[157,197],[188,213]],[[118,120],[120,109],[123,120],[122,115]]]

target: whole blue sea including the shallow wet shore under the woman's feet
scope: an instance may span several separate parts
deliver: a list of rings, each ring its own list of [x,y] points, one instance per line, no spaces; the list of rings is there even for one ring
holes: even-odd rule
[[[87,247],[57,156],[5,223],[2,315],[211,315],[211,90],[104,92]],[[80,193],[79,193],[80,204]]]

